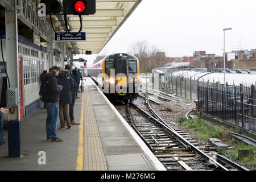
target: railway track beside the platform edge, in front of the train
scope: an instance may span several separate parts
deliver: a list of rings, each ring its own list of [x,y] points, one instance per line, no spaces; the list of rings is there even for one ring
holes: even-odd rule
[[[167,170],[243,170],[230,161],[211,158],[207,148],[199,146],[188,133],[163,121],[152,109],[151,104],[155,103],[147,95],[141,98],[144,104],[115,107]]]

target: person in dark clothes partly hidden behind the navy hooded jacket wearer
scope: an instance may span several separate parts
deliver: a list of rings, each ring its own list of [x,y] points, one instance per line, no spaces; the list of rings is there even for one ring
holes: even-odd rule
[[[65,69],[68,69],[69,71],[72,71],[72,67],[70,64],[66,64],[65,65]],[[74,82],[74,88],[71,90],[71,94],[72,94],[72,104],[69,104],[69,118],[71,121],[72,125],[80,125],[80,123],[75,122],[74,119],[74,106],[75,106],[75,101],[76,101],[76,90],[77,88],[77,83],[76,83],[76,79],[73,76],[73,74],[69,73],[69,76],[72,77],[73,82]]]

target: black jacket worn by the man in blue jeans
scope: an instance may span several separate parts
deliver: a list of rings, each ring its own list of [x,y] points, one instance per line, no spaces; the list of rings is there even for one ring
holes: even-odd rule
[[[41,77],[41,81],[48,81],[48,97],[47,100],[44,102],[58,102],[59,101],[59,94],[60,94],[60,86],[58,85],[58,81],[55,75],[51,73],[43,74]]]

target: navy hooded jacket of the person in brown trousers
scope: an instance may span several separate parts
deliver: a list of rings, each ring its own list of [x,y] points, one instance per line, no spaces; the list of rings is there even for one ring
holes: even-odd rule
[[[58,84],[63,86],[63,89],[60,92],[60,104],[71,104],[74,82],[72,77],[69,76],[69,70],[61,69],[57,80]]]

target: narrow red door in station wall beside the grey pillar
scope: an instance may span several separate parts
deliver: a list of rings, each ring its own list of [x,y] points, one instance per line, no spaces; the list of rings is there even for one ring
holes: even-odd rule
[[[24,102],[23,102],[23,59],[22,57],[19,57],[19,113],[20,113],[20,119],[24,117]]]

